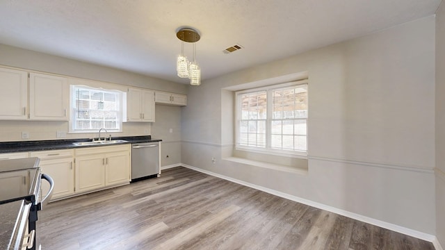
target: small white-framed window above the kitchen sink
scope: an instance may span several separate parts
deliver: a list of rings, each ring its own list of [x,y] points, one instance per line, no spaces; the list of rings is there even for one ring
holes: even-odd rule
[[[72,85],[70,132],[122,132],[123,95],[119,90]]]

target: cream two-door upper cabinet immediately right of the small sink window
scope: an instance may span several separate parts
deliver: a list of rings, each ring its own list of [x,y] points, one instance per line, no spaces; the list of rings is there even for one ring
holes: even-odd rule
[[[154,122],[154,92],[129,88],[127,92],[127,122]]]

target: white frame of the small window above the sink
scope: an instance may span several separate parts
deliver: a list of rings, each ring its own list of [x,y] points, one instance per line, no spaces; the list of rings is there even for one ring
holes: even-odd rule
[[[76,89],[83,89],[83,90],[94,90],[94,91],[98,91],[98,92],[105,92],[105,93],[113,93],[113,94],[117,94],[118,95],[118,110],[116,110],[118,112],[118,117],[117,117],[117,124],[118,124],[118,128],[112,129],[112,128],[106,128],[106,131],[108,133],[111,132],[122,132],[122,122],[123,121],[123,113],[124,113],[124,92],[120,91],[120,90],[106,90],[104,88],[93,88],[87,85],[71,85],[70,86],[70,110],[71,110],[71,115],[70,115],[70,122],[69,122],[69,129],[68,129],[68,133],[97,133],[97,131],[99,131],[100,128],[90,128],[90,129],[82,129],[82,128],[76,128],[75,124],[76,124],[76,111],[77,111],[77,107],[76,107],[76,98],[74,97]]]

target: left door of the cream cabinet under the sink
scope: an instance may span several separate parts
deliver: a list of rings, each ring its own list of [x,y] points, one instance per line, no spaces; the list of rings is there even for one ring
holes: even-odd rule
[[[104,185],[104,154],[76,157],[76,192],[95,190]]]

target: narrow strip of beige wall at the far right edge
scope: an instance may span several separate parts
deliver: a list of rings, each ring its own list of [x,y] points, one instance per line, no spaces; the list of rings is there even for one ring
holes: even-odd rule
[[[445,3],[436,13],[436,235],[445,246]]]

